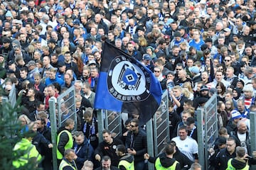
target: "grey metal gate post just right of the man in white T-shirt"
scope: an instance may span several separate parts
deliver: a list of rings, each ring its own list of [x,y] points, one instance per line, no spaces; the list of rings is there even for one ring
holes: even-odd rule
[[[197,132],[198,132],[198,159],[202,170],[205,169],[204,137],[203,137],[203,108],[198,108],[197,113]]]

